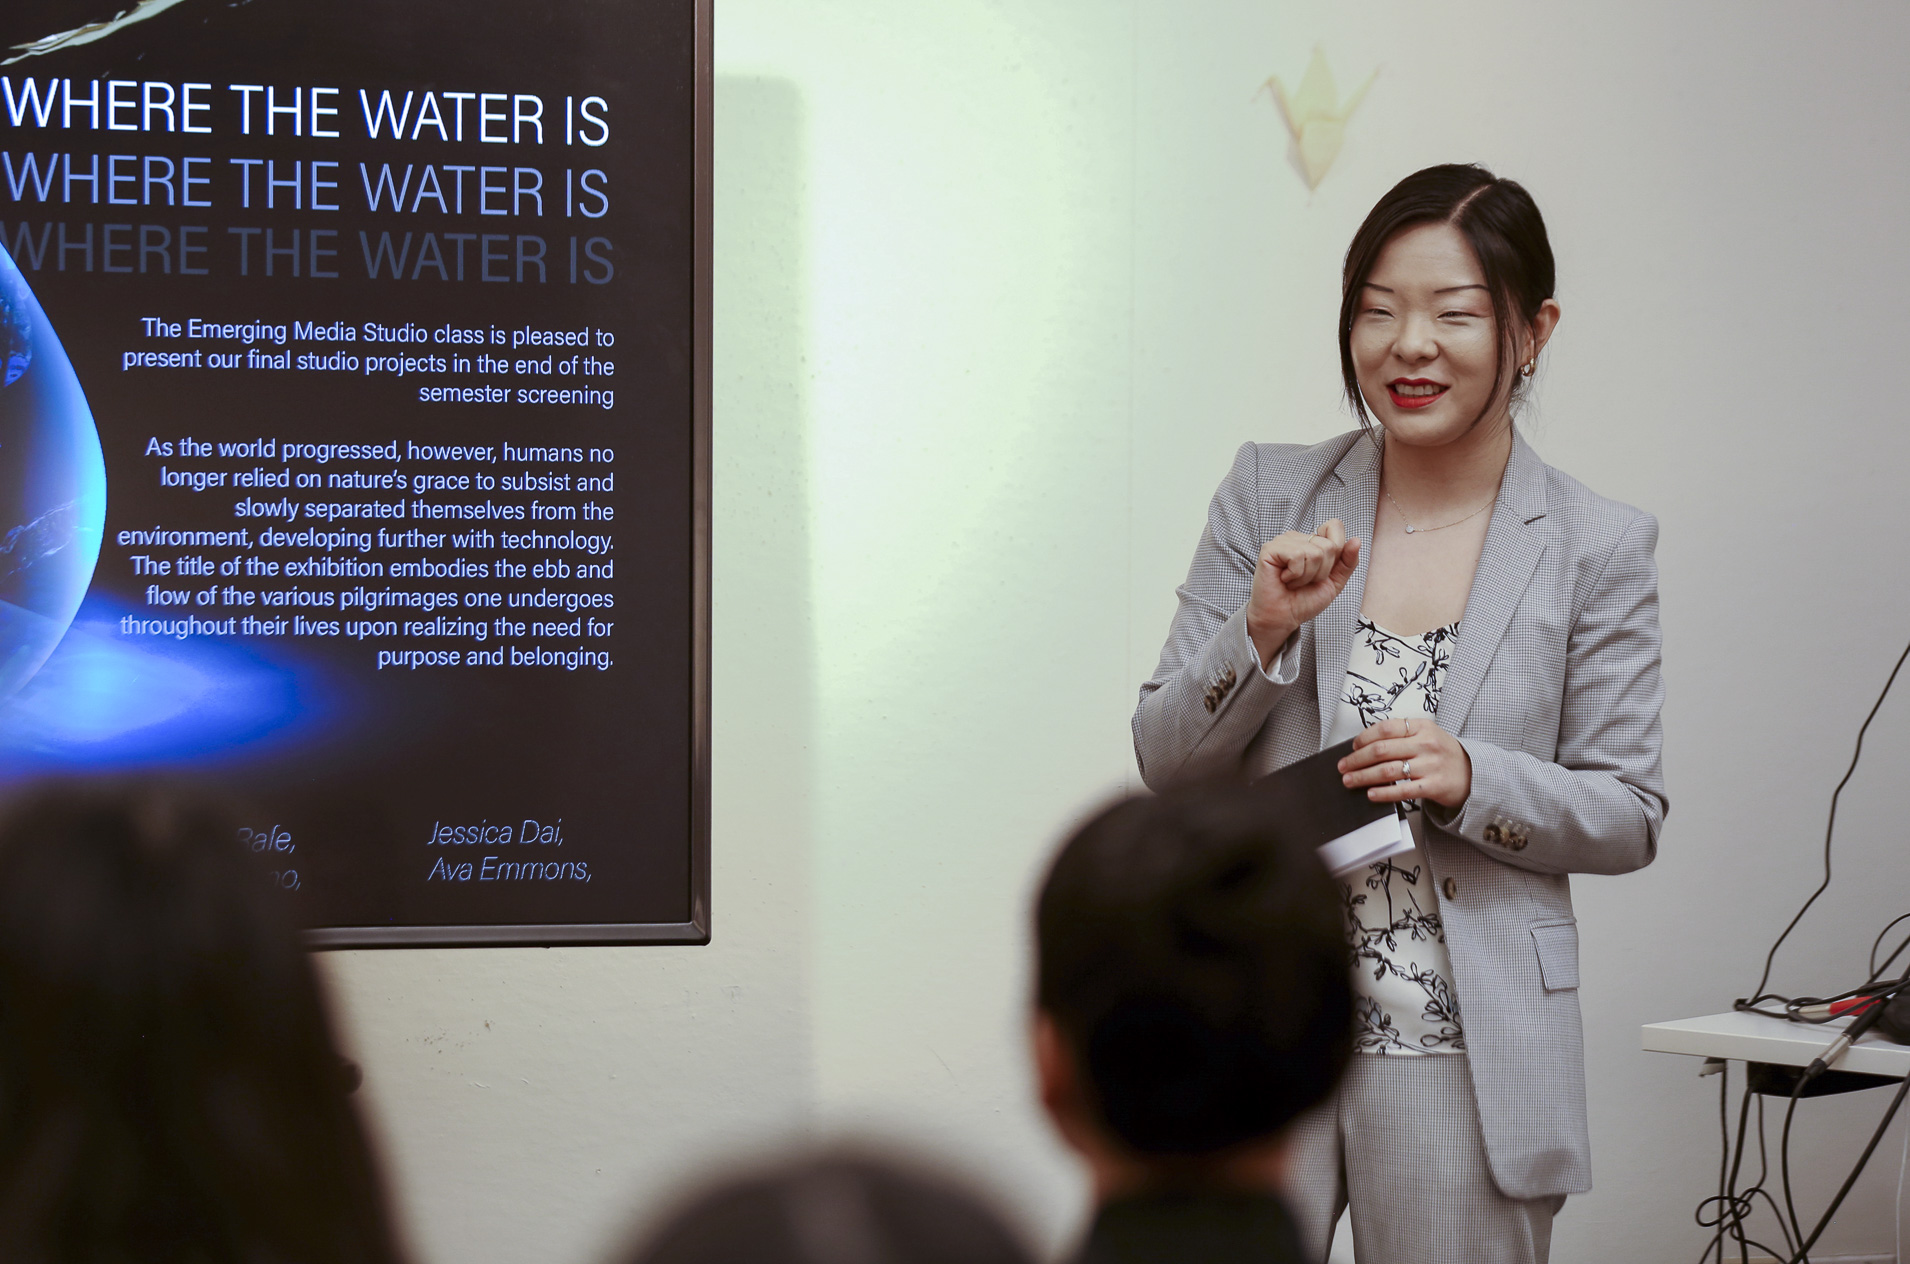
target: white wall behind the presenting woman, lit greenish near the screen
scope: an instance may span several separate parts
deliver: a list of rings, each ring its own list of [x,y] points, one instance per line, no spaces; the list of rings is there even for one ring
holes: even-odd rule
[[[1660,516],[1671,819],[1576,884],[1595,1193],[1555,1258],[1688,1260],[1715,1085],[1643,1022],[1727,1008],[1814,884],[1902,638],[1899,4],[724,0],[716,943],[327,959],[424,1260],[590,1260],[762,1138],[882,1130],[1054,1241],[1024,922],[1242,439],[1337,405],[1339,254],[1402,174],[1532,187],[1566,319],[1530,433]],[[1381,67],[1324,185],[1268,74]],[[1906,685],[1910,687],[1910,685]],[[1891,785],[1780,959],[1841,987],[1910,905]],[[1801,1117],[1820,1207],[1879,1094]],[[1828,1254],[1887,1253],[1895,1142]]]

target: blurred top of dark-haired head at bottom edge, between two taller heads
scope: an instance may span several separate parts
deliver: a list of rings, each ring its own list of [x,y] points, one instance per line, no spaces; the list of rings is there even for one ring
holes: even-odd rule
[[[888,1159],[739,1176],[668,1216],[632,1264],[1031,1264],[974,1195]]]

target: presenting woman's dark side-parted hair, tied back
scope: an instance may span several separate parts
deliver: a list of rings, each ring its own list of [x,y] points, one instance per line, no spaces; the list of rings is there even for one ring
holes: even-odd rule
[[[1373,420],[1366,412],[1360,378],[1352,367],[1352,321],[1360,311],[1360,290],[1373,275],[1387,242],[1421,223],[1450,223],[1459,229],[1473,246],[1478,269],[1486,275],[1486,290],[1492,294],[1499,355],[1492,367],[1492,393],[1473,418],[1475,426],[1486,418],[1505,386],[1509,376],[1505,361],[1517,342],[1515,328],[1538,319],[1539,307],[1553,296],[1559,281],[1551,241],[1545,237],[1545,218],[1517,179],[1501,179],[1475,162],[1448,162],[1413,172],[1392,185],[1352,235],[1341,269],[1339,378],[1354,418],[1368,432]],[[1513,376],[1513,395],[1518,395],[1517,376]]]

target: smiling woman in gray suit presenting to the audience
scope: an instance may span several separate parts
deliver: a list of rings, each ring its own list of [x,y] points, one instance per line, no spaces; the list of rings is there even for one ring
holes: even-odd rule
[[[1297,1127],[1326,1256],[1539,1264],[1591,1188],[1570,873],[1648,865],[1658,523],[1553,470],[1513,407],[1559,325],[1532,197],[1478,166],[1387,193],[1347,250],[1360,430],[1247,443],[1215,493],[1135,752],[1154,789],[1354,741],[1417,848],[1343,874],[1358,1048]]]

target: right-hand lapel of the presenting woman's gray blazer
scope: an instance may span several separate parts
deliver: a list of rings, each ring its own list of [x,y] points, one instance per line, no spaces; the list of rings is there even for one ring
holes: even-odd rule
[[[1499,651],[1499,640],[1513,622],[1526,584],[1545,554],[1545,462],[1538,458],[1524,437],[1513,432],[1513,456],[1505,464],[1499,502],[1486,527],[1486,546],[1478,554],[1473,592],[1465,600],[1459,638],[1446,668],[1446,685],[1438,699],[1438,724],[1448,733],[1459,733],[1465,716],[1486,680],[1486,668]]]

